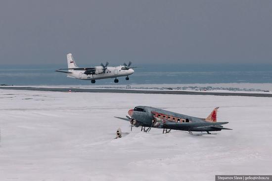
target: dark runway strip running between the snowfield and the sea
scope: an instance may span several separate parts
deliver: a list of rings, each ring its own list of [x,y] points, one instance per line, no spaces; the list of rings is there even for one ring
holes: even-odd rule
[[[80,88],[42,88],[42,87],[0,87],[4,90],[40,90],[68,92],[108,92],[108,93],[144,93],[144,94],[182,94],[182,95],[223,95],[223,96],[250,96],[272,97],[269,93],[236,93],[236,92],[206,92],[206,91],[181,91],[181,90],[130,90],[130,89],[80,89]]]

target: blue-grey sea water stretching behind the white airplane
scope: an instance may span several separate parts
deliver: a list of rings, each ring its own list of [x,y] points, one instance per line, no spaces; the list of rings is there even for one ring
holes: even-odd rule
[[[88,65],[87,65],[88,66]],[[135,73],[119,84],[212,84],[272,83],[272,64],[203,64],[203,65],[133,65]],[[90,67],[90,66],[89,66]],[[0,84],[22,85],[91,85],[91,81],[67,78],[55,72],[65,65],[24,65],[0,67]],[[116,85],[114,79],[97,80],[95,85]]]

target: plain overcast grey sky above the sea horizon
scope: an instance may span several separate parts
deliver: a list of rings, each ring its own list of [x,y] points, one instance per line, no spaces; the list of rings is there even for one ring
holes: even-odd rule
[[[272,0],[1,0],[0,65],[272,63]]]

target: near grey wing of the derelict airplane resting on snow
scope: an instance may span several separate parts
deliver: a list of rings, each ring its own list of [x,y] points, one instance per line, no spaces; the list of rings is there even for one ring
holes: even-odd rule
[[[203,127],[203,126],[215,126],[224,125],[228,122],[215,122],[215,123],[165,123],[164,126],[170,129],[188,129],[193,127]]]

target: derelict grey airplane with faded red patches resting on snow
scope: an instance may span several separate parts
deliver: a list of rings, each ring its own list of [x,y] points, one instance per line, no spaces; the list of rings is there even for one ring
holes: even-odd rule
[[[192,134],[192,132],[211,134],[212,131],[231,130],[221,126],[228,122],[217,122],[218,108],[216,107],[207,118],[197,118],[154,107],[136,106],[128,112],[131,117],[115,118],[129,121],[131,130],[133,126],[141,126],[141,131],[145,132],[149,132],[151,128],[161,128],[163,134],[169,133],[171,130],[188,131],[189,134]],[[148,128],[145,129],[145,127]]]

